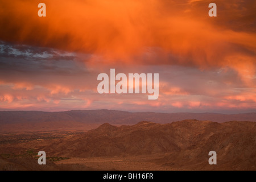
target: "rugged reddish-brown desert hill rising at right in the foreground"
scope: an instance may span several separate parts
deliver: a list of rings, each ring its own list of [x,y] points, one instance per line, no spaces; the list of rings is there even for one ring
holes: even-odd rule
[[[195,119],[119,127],[105,123],[85,134],[49,144],[43,150],[76,158],[165,154],[154,162],[183,169],[255,170],[256,123]],[[208,164],[208,152],[212,150],[217,152],[217,166]]]

